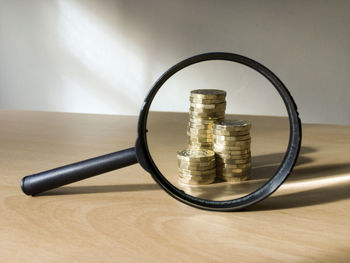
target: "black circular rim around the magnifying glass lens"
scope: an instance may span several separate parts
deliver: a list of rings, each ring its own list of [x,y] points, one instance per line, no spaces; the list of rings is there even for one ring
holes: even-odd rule
[[[210,60],[224,60],[240,63],[262,74],[265,78],[267,78],[270,81],[270,83],[276,88],[276,90],[280,94],[286,106],[289,117],[290,134],[288,148],[278,170],[263,186],[261,186],[254,192],[232,200],[212,201],[200,199],[195,196],[186,194],[184,191],[178,189],[177,187],[172,185],[158,170],[156,164],[154,163],[151,157],[147,144],[147,117],[152,101],[155,95],[157,94],[158,90],[171,76],[173,76],[178,71],[193,64]],[[296,163],[301,146],[301,137],[301,122],[299,119],[297,106],[285,85],[272,71],[270,71],[262,64],[242,55],[226,52],[211,52],[196,55],[177,63],[176,65],[169,68],[153,84],[151,90],[149,91],[148,95],[144,100],[144,104],[140,111],[138,122],[137,152],[138,159],[142,159],[143,167],[152,175],[153,179],[175,199],[187,205],[205,210],[233,211],[255,204],[265,199],[278,189],[278,187],[287,179]]]

